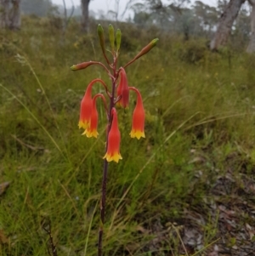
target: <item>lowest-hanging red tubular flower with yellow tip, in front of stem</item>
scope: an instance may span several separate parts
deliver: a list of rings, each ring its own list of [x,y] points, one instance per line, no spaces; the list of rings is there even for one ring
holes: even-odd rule
[[[122,159],[120,154],[120,145],[121,145],[121,133],[118,128],[118,120],[116,116],[116,109],[112,109],[112,122],[111,122],[111,130],[108,134],[108,145],[107,151],[104,156],[104,159],[108,162],[115,161],[119,162]]]

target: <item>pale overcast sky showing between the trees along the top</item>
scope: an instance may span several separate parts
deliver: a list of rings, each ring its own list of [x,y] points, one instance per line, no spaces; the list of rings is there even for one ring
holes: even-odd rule
[[[72,1],[76,6],[78,6],[81,3],[81,0],[72,0]],[[120,1],[119,14],[122,14],[128,0],[119,0],[119,1]],[[167,0],[162,0],[162,3],[167,3],[167,2],[169,3],[169,1]],[[195,2],[195,0],[191,1],[191,3],[192,2]],[[207,3],[209,5],[216,5],[217,0],[201,0],[201,2]],[[63,0],[52,0],[52,3],[63,5]],[[67,7],[71,7],[71,0],[65,0],[65,4]],[[99,11],[103,11],[105,14],[107,14],[108,11],[110,10],[114,11],[115,7],[116,7],[116,0],[91,0],[88,6],[89,10],[93,10],[96,14],[99,13]],[[128,17],[128,13],[126,15],[126,18],[127,17]]]

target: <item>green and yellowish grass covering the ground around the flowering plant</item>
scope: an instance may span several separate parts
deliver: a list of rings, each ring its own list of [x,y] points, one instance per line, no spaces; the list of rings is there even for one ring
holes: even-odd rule
[[[124,65],[152,38],[120,26]],[[109,169],[105,255],[180,255],[187,209],[206,219],[207,247],[218,238],[218,217],[204,201],[216,200],[214,181],[231,169],[241,188],[240,173],[252,177],[254,168],[254,56],[204,49],[195,60],[196,41],[160,31],[152,37],[160,37],[157,47],[127,68],[130,86],[144,98],[146,138],[128,135],[132,96],[130,110],[118,111],[123,160]],[[0,197],[0,255],[47,255],[49,224],[59,255],[96,255],[103,106],[99,139],[82,137],[77,122],[88,82],[110,80],[99,67],[70,66],[102,60],[97,37],[82,35],[73,22],[63,43],[47,20],[26,18],[21,31],[0,31],[0,38],[0,184],[10,182]],[[167,236],[153,247],[163,230]]]

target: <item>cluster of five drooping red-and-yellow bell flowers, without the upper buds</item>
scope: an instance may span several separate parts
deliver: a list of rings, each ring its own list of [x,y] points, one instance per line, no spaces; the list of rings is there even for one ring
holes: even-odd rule
[[[121,67],[119,69],[120,74],[120,82],[116,88],[116,97],[114,97],[114,105],[111,108],[111,115],[108,118],[111,118],[111,128],[108,134],[107,141],[107,152],[104,158],[108,161],[118,162],[122,159],[120,154],[120,143],[121,143],[121,134],[118,128],[117,114],[115,105],[122,106],[123,108],[127,108],[129,104],[129,91],[133,90],[137,94],[136,106],[133,111],[133,123],[132,130],[130,132],[131,138],[140,139],[141,137],[145,138],[144,135],[144,105],[142,96],[139,93],[137,88],[128,87],[127,84],[127,75],[126,71]],[[106,94],[108,92],[105,82],[101,79],[94,79],[88,84],[86,92],[82,98],[81,102],[81,110],[80,110],[80,120],[79,120],[79,128],[83,128],[84,132],[82,135],[86,135],[88,138],[98,136],[98,111],[96,106],[96,100],[101,98],[105,103],[106,113],[107,106],[105,96],[103,94],[95,94],[92,97],[92,87],[95,82],[101,82],[105,86]],[[108,94],[107,94],[108,95]]]

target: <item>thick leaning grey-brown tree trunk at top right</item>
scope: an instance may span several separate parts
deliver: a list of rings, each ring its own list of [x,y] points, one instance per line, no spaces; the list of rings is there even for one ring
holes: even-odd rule
[[[219,46],[224,45],[227,42],[234,20],[241,9],[242,3],[245,1],[246,0],[229,1],[229,4],[219,19],[216,34],[211,41],[210,48],[212,50],[218,49]]]

